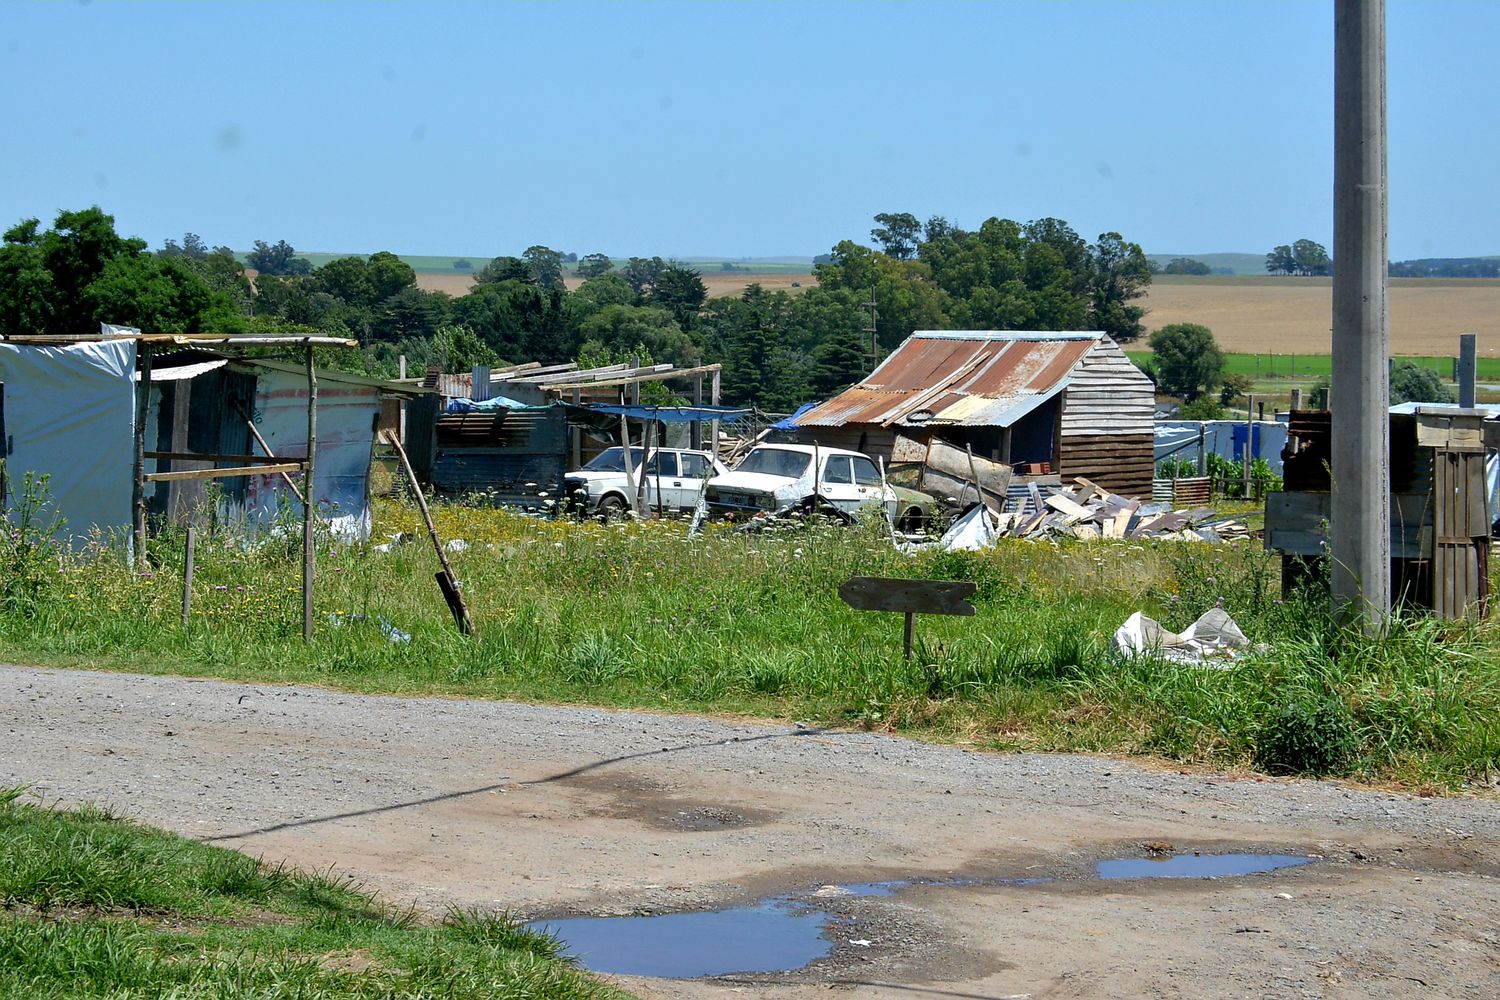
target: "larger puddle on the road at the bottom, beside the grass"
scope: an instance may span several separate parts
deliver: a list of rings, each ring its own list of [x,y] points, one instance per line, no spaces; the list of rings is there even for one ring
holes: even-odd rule
[[[534,921],[567,943],[584,969],[626,976],[693,979],[789,972],[824,958],[828,915],[771,901],[699,913]]]

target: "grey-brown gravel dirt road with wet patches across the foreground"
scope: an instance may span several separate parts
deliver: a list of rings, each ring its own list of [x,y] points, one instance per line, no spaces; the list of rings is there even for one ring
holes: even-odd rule
[[[423,907],[690,910],[824,885],[800,972],[642,997],[1500,996],[1500,804],[870,733],[0,667],[0,784]],[[1314,855],[1216,880],[1095,862]],[[1160,844],[1164,847],[1164,844]]]

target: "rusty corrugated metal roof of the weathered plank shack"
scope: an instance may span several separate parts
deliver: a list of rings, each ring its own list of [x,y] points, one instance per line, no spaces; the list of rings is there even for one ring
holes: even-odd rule
[[[1101,336],[918,331],[868,378],[807,411],[796,424],[1005,427],[1062,391]]]

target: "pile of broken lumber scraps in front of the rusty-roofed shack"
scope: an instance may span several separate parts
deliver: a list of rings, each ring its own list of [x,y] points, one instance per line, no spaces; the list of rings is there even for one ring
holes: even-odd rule
[[[1170,504],[1143,504],[1076,478],[1072,487],[1030,486],[1029,499],[1016,510],[996,514],[996,534],[1010,538],[1182,538],[1228,541],[1245,538],[1250,529],[1234,517],[1221,517],[1212,507],[1172,510]]]

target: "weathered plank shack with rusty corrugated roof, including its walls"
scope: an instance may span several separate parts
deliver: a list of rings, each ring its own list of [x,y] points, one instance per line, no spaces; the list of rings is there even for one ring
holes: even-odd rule
[[[1150,493],[1155,387],[1098,331],[924,330],[858,385],[792,418],[801,441],[891,460],[938,439],[1020,475]]]

